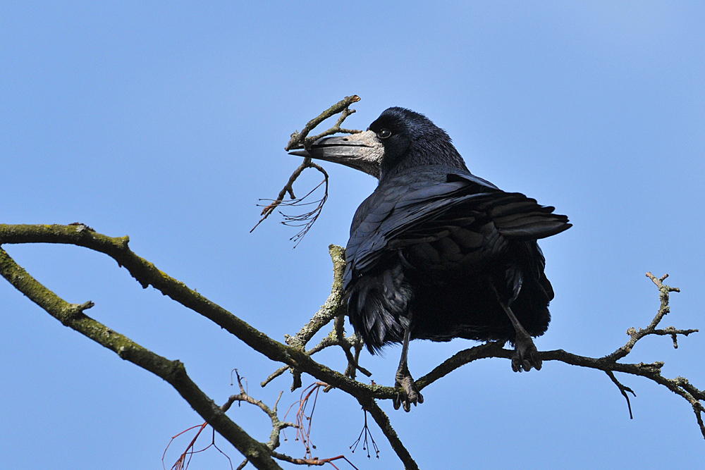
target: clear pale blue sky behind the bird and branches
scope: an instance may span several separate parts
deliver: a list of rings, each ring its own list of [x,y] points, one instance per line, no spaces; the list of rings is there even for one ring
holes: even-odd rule
[[[646,271],[682,288],[664,326],[705,328],[704,25],[704,5],[685,1],[2,2],[0,221],[129,235],[137,254],[283,340],[329,294],[327,247],[345,245],[376,182],[326,165],[329,202],[296,249],[278,216],[249,233],[257,199],[274,197],[300,163],[283,151],[290,133],[359,94],[350,127],[388,106],[426,113],[473,173],[570,216],[574,228],[541,242],[556,299],[539,349],[599,357],[623,345],[658,307]],[[69,302],[92,299],[94,318],[183,361],[216,402],[235,392],[235,367],[270,403],[290,386],[284,376],[259,388],[276,364],[104,255],[6,249]],[[678,350],[648,338],[630,359],[666,361],[666,376],[705,388],[704,335]],[[473,344],[414,342],[412,372]],[[362,364],[391,385],[398,353]],[[157,469],[171,435],[200,422],[168,384],[4,281],[0,356],[7,468]],[[318,359],[340,366],[339,356]],[[520,375],[506,360],[479,361],[424,390],[410,414],[382,406],[423,469],[697,466],[705,443],[689,404],[620,379],[637,392],[633,421],[605,374],[553,362]],[[297,397],[285,393],[281,408]],[[229,414],[268,438],[263,414]],[[322,396],[317,454],[350,454],[362,419],[350,397]],[[358,450],[353,462],[400,468],[372,433],[379,461]],[[281,450],[302,456],[287,436]],[[192,465],[230,468],[215,451]]]

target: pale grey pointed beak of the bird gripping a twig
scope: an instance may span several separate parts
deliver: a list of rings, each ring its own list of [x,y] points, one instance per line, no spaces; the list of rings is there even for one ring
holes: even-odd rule
[[[289,154],[341,163],[379,178],[384,147],[376,134],[367,130],[358,134],[324,137],[307,150],[290,151]]]

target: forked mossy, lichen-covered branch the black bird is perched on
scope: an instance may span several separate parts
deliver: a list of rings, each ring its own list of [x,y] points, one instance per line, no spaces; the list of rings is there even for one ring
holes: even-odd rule
[[[94,230],[82,224],[0,225],[0,245],[38,242],[66,243],[87,247],[97,252],[108,254],[115,259],[120,266],[124,266],[128,269],[130,274],[142,284],[143,287],[149,285],[154,286],[157,290],[164,293],[164,295],[168,295],[168,297],[171,297],[176,302],[212,320],[237,338],[240,338],[240,340],[243,340],[243,342],[252,347],[253,350],[264,354],[264,356],[269,359],[281,362],[285,364],[286,367],[298,371],[298,373],[308,373],[310,376],[313,376],[331,387],[339,388],[347,392],[349,395],[355,397],[362,407],[372,415],[373,419],[384,432],[391,447],[404,462],[405,466],[410,469],[417,468],[409,452],[405,449],[396,435],[396,432],[394,432],[391,427],[388,417],[374,401],[393,399],[398,394],[398,390],[393,387],[360,383],[345,376],[345,374],[338,373],[323,364],[319,364],[311,357],[311,354],[314,354],[317,350],[322,350],[324,347],[341,345],[344,350],[346,347],[348,348],[348,350],[346,350],[346,356],[348,356],[350,360],[350,357],[353,357],[350,348],[354,347],[355,355],[353,359],[355,361],[355,367],[359,368],[359,366],[357,366],[357,355],[360,352],[359,347],[361,344],[357,342],[357,338],[345,338],[343,334],[343,319],[341,314],[344,312],[345,307],[343,304],[342,286],[339,283],[341,283],[345,263],[343,250],[340,247],[331,247],[331,257],[333,257],[334,266],[334,283],[329,299],[326,300],[326,304],[321,307],[321,310],[317,312],[314,319],[307,323],[297,335],[289,337],[287,341],[289,344],[285,345],[269,338],[264,333],[231,314],[231,312],[223,309],[223,307],[210,302],[207,298],[188,288],[185,284],[159,271],[154,264],[134,254],[128,247],[128,237],[107,237],[106,235],[96,233]],[[188,379],[188,376],[185,375],[183,365],[178,363],[178,361],[168,361],[152,352],[144,350],[144,348],[134,345],[133,342],[130,342],[130,340],[122,335],[118,335],[118,333],[113,332],[106,326],[89,319],[83,314],[83,311],[92,307],[90,302],[86,302],[85,304],[68,304],[64,302],[63,299],[59,299],[53,292],[33,280],[22,268],[16,266],[14,261],[12,261],[4,251],[1,252],[1,255],[0,271],[2,271],[3,276],[15,285],[18,290],[25,293],[27,297],[30,297],[30,299],[41,305],[42,308],[49,311],[50,314],[56,316],[62,323],[68,324],[71,328],[78,329],[89,336],[89,338],[101,342],[101,344],[106,347],[110,347],[112,350],[118,352],[123,359],[131,360],[135,362],[135,364],[145,367],[147,370],[154,371],[154,373],[157,373],[159,376],[162,376],[161,374],[168,376],[169,378],[165,380],[170,381],[185,398],[188,396],[187,400],[196,400],[194,402],[195,404],[192,404],[192,406],[197,409],[197,412],[204,416],[204,419],[214,424],[214,427],[219,433],[223,435],[227,433],[244,433],[244,431],[236,427],[237,425],[235,425],[235,423],[229,421],[227,416],[224,416],[219,407],[216,407],[211,400],[202,395],[202,392],[200,392],[195,384]],[[651,273],[648,273],[647,276],[649,276],[658,288],[659,299],[661,301],[660,307],[649,326],[646,328],[630,328],[630,330],[627,330],[627,334],[630,335],[630,340],[627,341],[623,347],[601,358],[584,357],[565,352],[564,350],[539,352],[539,357],[543,361],[562,361],[566,364],[604,371],[618,387],[620,393],[627,398],[627,404],[627,392],[633,393],[633,391],[625,387],[625,385],[622,385],[615,377],[615,373],[630,373],[632,375],[649,378],[651,381],[663,385],[689,402],[696,416],[701,433],[705,437],[705,425],[702,418],[702,414],[705,411],[703,407],[705,392],[703,390],[696,388],[689,383],[686,378],[666,378],[661,376],[663,362],[656,361],[651,364],[625,364],[620,362],[620,359],[630,354],[637,342],[646,338],[646,336],[670,336],[670,338],[674,340],[674,347],[677,347],[678,343],[675,341],[675,338],[678,338],[678,336],[687,336],[697,331],[694,329],[682,330],[670,326],[668,328],[658,327],[663,316],[670,311],[670,292],[678,292],[679,290],[675,287],[663,284],[663,280],[666,279],[666,276],[656,278],[651,275]],[[319,345],[306,351],[305,347],[307,342],[309,342],[313,335],[323,326],[329,324],[332,319],[338,319],[338,321],[334,324],[331,333],[321,340]],[[458,354],[444,361],[443,364],[436,366],[436,368],[427,373],[426,376],[419,378],[416,382],[417,388],[422,390],[431,385],[431,383],[446,376],[448,373],[458,369],[460,366],[477,359],[491,357],[510,359],[512,355],[513,351],[505,350],[503,345],[498,342],[488,342],[472,347],[458,352]],[[145,359],[145,357],[149,360]],[[348,367],[348,371],[349,369],[350,366]],[[204,400],[203,403],[207,403],[208,405],[206,406],[201,402],[197,402],[197,400]],[[191,401],[189,402],[191,403]],[[233,429],[235,431],[233,431]],[[247,436],[247,438],[249,438],[249,436]],[[249,439],[251,440],[252,438]],[[257,443],[255,440],[252,441],[256,443],[252,444],[255,447],[244,448],[241,452],[250,452],[255,457],[262,456],[262,448],[265,448],[266,452],[271,452],[269,447],[266,447],[264,444]],[[235,447],[237,447],[237,445]],[[238,447],[238,449],[240,449],[240,447]],[[269,457],[269,455],[266,457]],[[263,462],[265,462],[263,465],[266,465],[268,461],[266,461],[264,457],[262,457],[262,459]],[[307,462],[307,464],[314,463]],[[315,464],[319,463],[317,462]]]

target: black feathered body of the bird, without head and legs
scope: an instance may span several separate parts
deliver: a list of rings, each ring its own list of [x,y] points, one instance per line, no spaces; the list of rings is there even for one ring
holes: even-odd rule
[[[532,336],[548,327],[551,284],[535,241],[567,228],[522,194],[457,168],[408,168],[360,206],[346,249],[348,315],[370,350],[411,338],[513,340],[491,289]]]

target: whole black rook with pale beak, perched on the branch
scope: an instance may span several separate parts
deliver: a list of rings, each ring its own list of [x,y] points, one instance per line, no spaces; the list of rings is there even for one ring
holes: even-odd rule
[[[541,369],[532,336],[548,328],[553,289],[536,240],[570,228],[568,217],[472,175],[448,134],[409,109],[292,154],[379,178],[350,227],[343,287],[372,354],[403,344],[396,408],[424,401],[407,367],[409,340],[509,341],[514,371]]]

